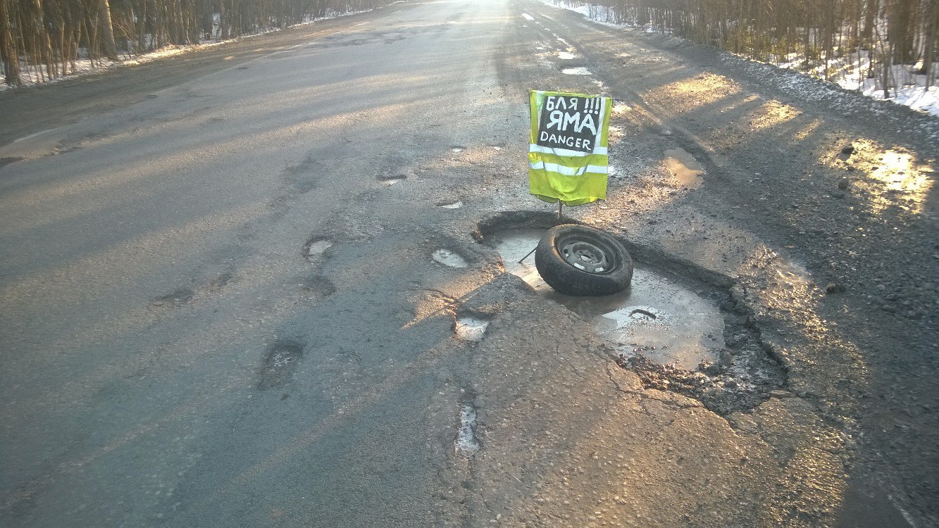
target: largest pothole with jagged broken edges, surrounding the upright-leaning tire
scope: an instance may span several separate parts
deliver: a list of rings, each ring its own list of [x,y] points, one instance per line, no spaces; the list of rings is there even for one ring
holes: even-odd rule
[[[756,407],[785,384],[784,370],[767,354],[746,307],[709,281],[707,272],[688,277],[687,263],[671,270],[659,256],[655,267],[636,263],[632,284],[621,294],[558,294],[541,279],[534,256],[526,257],[550,221],[521,214],[501,219],[510,222],[483,222],[479,234],[500,253],[505,270],[588,321],[616,351],[617,363],[636,370],[647,387],[685,394],[730,415]]]

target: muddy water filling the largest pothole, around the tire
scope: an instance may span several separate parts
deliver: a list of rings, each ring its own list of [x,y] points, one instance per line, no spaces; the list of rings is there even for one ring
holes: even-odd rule
[[[486,244],[500,252],[507,272],[589,321],[596,335],[618,353],[639,352],[660,365],[685,370],[695,370],[704,360],[716,362],[725,343],[724,317],[714,303],[644,267],[634,270],[632,285],[620,294],[559,294],[538,274],[534,255],[518,262],[543,234],[539,229],[505,230],[489,235]]]

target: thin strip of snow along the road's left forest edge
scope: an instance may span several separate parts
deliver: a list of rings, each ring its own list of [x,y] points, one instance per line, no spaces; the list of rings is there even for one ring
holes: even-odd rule
[[[398,2],[393,2],[393,4],[397,4],[397,3]],[[391,5],[392,4],[389,4],[389,6]],[[371,11],[371,10],[373,9],[340,12],[340,11],[334,11],[330,9],[327,11],[326,16],[324,17],[317,18],[316,20],[310,18],[309,20],[305,22],[294,24],[289,27],[299,27],[302,25],[308,25],[311,23],[316,23],[316,22],[320,22],[324,20],[344,17],[348,15],[355,15],[358,13],[364,13],[364,12]],[[216,18],[217,17],[218,15],[216,15]],[[56,83],[58,81],[63,81],[65,79],[74,79],[75,77],[88,75],[89,73],[103,71],[105,69],[121,68],[121,67],[126,67],[126,66],[137,66],[141,64],[146,64],[146,63],[153,62],[155,60],[160,60],[166,57],[172,57],[175,55],[181,55],[183,53],[192,53],[192,52],[196,52],[199,50],[204,50],[212,46],[218,46],[219,44],[222,44],[223,42],[234,42],[234,41],[242,40],[244,38],[253,38],[253,37],[257,37],[258,35],[265,35],[267,33],[272,33],[274,31],[281,31],[281,28],[269,27],[269,28],[259,29],[254,33],[251,33],[248,35],[242,35],[237,38],[229,38],[227,40],[215,39],[215,38],[201,39],[198,44],[192,44],[189,46],[176,46],[176,45],[171,44],[168,46],[164,46],[159,50],[155,50],[153,52],[140,53],[137,55],[125,55],[124,58],[121,58],[116,61],[112,61],[105,57],[100,57],[98,59],[95,59],[94,61],[92,61],[89,58],[79,58],[78,60],[74,61],[74,68],[72,67],[72,63],[70,61],[65,64],[59,65],[58,68],[68,70],[69,74],[62,75],[60,77],[54,77],[54,78],[49,78],[49,76],[43,71],[45,69],[44,66],[32,66],[31,65],[29,67],[26,67],[25,65],[23,65],[23,63],[21,63],[20,64],[20,79],[23,82],[23,86],[33,86],[38,83],[43,83],[43,84],[44,83]],[[79,56],[81,57],[82,55],[85,55],[85,57],[87,56],[87,52],[85,51],[84,48],[79,50]],[[3,76],[0,75],[0,91],[7,90],[8,88],[12,88],[12,86],[9,86],[6,80],[4,80]]]

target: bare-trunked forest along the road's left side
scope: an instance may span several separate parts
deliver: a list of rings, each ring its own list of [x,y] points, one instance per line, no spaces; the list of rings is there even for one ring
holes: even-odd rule
[[[0,0],[10,86],[43,82],[166,46],[237,38],[392,0]]]

